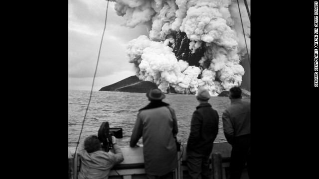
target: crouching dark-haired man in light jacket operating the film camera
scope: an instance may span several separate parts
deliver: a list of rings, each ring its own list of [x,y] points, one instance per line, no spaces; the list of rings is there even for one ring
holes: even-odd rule
[[[114,153],[103,150],[98,136],[90,135],[85,138],[82,149],[79,150],[81,170],[78,179],[107,179],[113,166],[124,161],[114,136],[112,136],[112,143]]]

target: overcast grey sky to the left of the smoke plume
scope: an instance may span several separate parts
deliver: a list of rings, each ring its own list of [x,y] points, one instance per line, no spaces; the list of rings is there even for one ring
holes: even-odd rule
[[[134,65],[126,59],[126,45],[140,35],[148,35],[146,26],[129,28],[116,14],[115,2],[109,2],[106,30],[93,90],[135,75]],[[91,90],[104,29],[106,0],[69,0],[69,89]]]

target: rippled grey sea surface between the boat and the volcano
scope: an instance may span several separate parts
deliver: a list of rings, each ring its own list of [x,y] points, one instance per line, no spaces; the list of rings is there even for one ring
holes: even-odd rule
[[[69,146],[76,147],[87,108],[90,91],[68,90],[69,92]],[[250,98],[243,98],[250,102]],[[120,146],[129,146],[132,129],[138,110],[150,101],[145,93],[93,91],[81,139],[98,133],[102,122],[109,122],[110,127],[123,128],[123,138],[117,139]],[[178,125],[177,139],[187,143],[192,113],[199,104],[195,95],[166,94],[163,102],[169,103],[175,110]],[[215,141],[226,141],[223,134],[222,113],[230,105],[228,97],[211,97],[208,101],[219,115],[219,131]],[[138,144],[143,144],[142,138]]]

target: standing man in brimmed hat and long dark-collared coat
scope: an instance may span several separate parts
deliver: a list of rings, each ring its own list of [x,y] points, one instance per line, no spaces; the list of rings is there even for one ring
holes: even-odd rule
[[[160,89],[151,89],[146,96],[151,102],[139,110],[130,147],[135,147],[143,137],[147,178],[172,179],[172,171],[177,168],[176,116],[169,104],[162,102],[165,95]]]

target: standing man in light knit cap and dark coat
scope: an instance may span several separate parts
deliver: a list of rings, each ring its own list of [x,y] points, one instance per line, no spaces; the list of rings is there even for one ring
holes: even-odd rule
[[[218,133],[219,116],[208,103],[207,89],[199,88],[196,99],[199,105],[191,118],[187,141],[186,160],[192,179],[209,179],[209,155]]]

